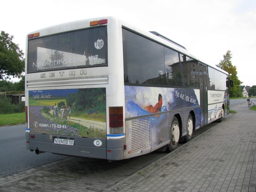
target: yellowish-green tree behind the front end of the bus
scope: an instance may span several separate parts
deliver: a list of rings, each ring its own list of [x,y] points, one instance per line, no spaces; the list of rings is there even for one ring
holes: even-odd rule
[[[223,60],[220,60],[220,63],[216,65],[218,68],[221,68],[222,70],[228,72],[228,76],[230,80],[234,81],[234,87],[229,88],[229,96],[230,97],[239,97],[242,95],[242,90],[240,89],[241,82],[238,79],[236,66],[232,65],[231,59],[232,54],[231,51],[227,51],[225,55],[223,55]]]

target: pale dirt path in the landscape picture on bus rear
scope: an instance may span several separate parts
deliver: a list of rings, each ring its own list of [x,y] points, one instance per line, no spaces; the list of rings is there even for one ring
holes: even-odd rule
[[[53,110],[51,110],[51,114],[52,114]],[[69,119],[69,116],[68,116],[68,119],[67,121],[72,121],[74,123],[77,123],[77,124],[80,124],[80,125],[83,125],[85,127],[91,127],[91,128],[98,128],[98,129],[104,129],[106,130],[106,122],[100,122],[100,121],[93,121],[93,120],[88,120],[88,119],[83,119],[83,118],[76,118],[76,117],[71,117],[70,116],[70,119]]]

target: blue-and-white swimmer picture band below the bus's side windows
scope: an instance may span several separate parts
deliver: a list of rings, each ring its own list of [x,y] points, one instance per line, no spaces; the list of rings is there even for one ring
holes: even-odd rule
[[[199,89],[125,86],[125,118],[200,105]]]

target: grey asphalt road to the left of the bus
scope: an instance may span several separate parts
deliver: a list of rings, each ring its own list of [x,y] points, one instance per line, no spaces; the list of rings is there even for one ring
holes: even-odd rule
[[[0,127],[0,177],[47,164],[67,156],[42,153],[36,155],[26,149],[26,126]]]

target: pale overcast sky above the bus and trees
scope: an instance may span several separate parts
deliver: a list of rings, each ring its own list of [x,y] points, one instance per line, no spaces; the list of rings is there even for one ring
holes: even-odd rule
[[[9,0],[1,2],[0,30],[25,53],[29,32],[98,16],[157,31],[212,66],[230,50],[242,85],[256,85],[256,0]]]

